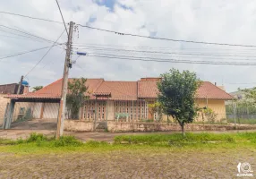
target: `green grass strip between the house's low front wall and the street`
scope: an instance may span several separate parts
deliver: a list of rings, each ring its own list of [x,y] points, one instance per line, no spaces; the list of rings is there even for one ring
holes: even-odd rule
[[[186,133],[182,134],[141,134],[121,135],[110,144],[105,141],[81,142],[73,136],[60,140],[32,133],[26,140],[1,140],[0,153],[49,154],[71,152],[108,152],[108,151],[201,151],[214,149],[254,149],[256,152],[256,132],[241,133]]]

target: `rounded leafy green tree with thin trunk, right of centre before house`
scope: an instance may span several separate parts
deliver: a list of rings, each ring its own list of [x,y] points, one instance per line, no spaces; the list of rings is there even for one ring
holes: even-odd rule
[[[201,81],[194,72],[175,69],[161,74],[161,78],[158,82],[158,101],[163,112],[181,125],[184,136],[184,124],[192,123],[197,115],[194,98]]]

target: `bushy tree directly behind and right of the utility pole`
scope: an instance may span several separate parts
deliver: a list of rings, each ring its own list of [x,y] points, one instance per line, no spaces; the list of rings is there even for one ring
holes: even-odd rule
[[[88,97],[85,96],[85,92],[88,90],[88,87],[85,86],[85,78],[73,79],[72,82],[68,82],[68,94],[66,97],[67,107],[71,112],[71,117],[73,119],[78,118],[78,113],[80,107],[83,106],[85,100]]]

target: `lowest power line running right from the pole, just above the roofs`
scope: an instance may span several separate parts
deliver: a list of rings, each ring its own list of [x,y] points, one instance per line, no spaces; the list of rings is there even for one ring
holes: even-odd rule
[[[145,57],[126,57],[126,56],[118,56],[118,55],[88,55],[88,56],[95,56],[101,58],[108,58],[108,59],[124,59],[124,60],[131,60],[131,61],[142,61],[142,62],[159,62],[159,63],[178,63],[178,64],[226,64],[226,65],[242,65],[242,66],[250,66],[256,65],[256,63],[230,63],[230,62],[214,62],[214,61],[191,61],[191,60],[177,60],[177,59],[163,59],[163,58],[150,58],[146,57],[149,60],[146,60]]]

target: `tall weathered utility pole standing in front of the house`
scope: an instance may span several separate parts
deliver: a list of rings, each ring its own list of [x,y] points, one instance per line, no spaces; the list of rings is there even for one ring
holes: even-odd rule
[[[66,93],[67,93],[67,84],[68,84],[68,72],[71,67],[71,50],[72,50],[72,38],[73,38],[73,21],[69,24],[69,33],[68,40],[66,44],[66,55],[64,62],[64,76],[63,76],[63,84],[62,84],[62,94],[60,100],[60,107],[58,112],[58,120],[57,120],[57,130],[56,130],[56,139],[59,139],[60,136],[63,135],[64,132],[64,118],[65,118],[65,102],[66,102]]]

